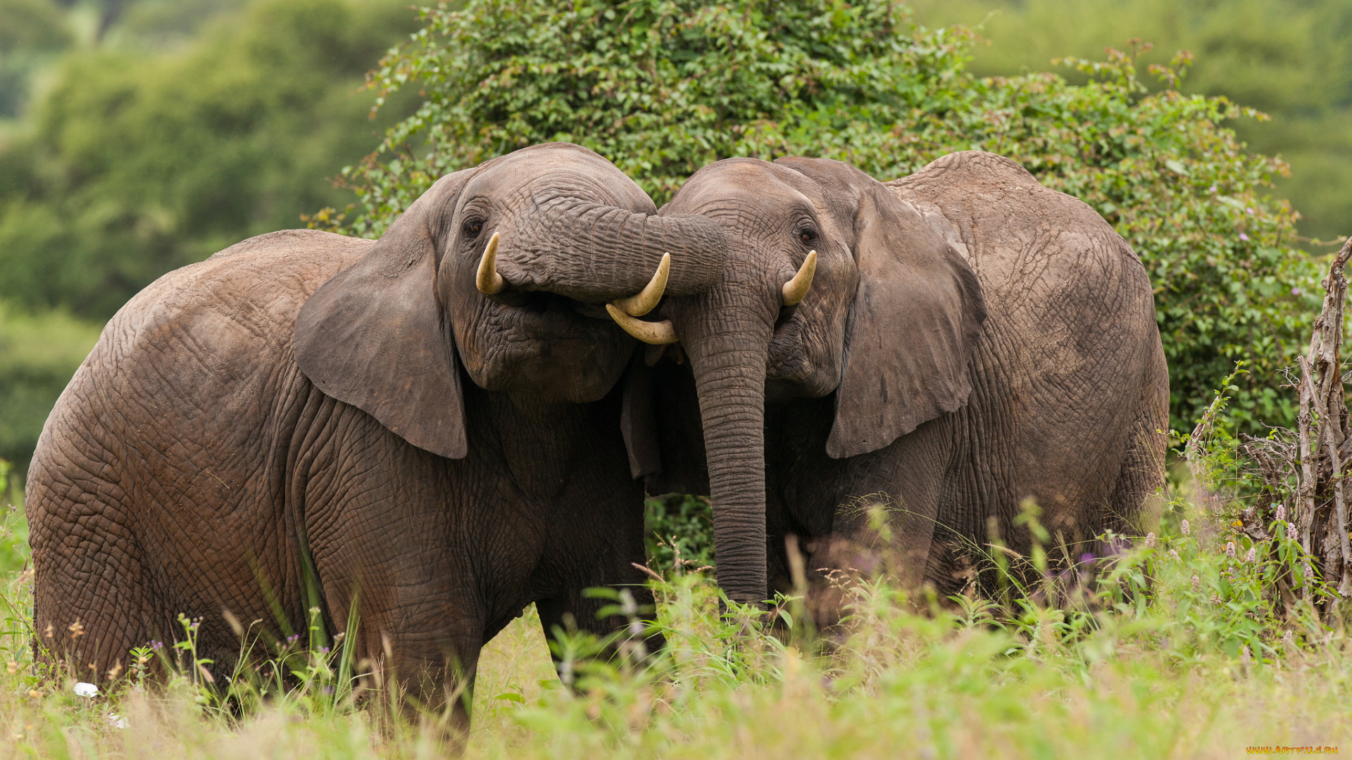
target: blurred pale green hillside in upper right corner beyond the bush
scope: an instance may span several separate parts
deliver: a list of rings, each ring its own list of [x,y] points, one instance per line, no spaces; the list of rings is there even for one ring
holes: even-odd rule
[[[1096,57],[1138,38],[1155,43],[1142,64],[1175,50],[1198,54],[1186,92],[1224,95],[1272,115],[1236,124],[1291,176],[1278,192],[1301,210],[1302,234],[1352,231],[1352,5],[1343,0],[915,0],[927,24],[979,24],[990,45],[972,70],[1013,76],[1061,55]],[[1083,81],[1083,80],[1082,80]],[[1317,246],[1314,246],[1317,249]]]

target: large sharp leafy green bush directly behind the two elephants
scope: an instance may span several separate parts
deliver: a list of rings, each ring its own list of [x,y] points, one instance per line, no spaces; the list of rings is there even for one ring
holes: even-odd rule
[[[1176,422],[1206,407],[1237,358],[1253,361],[1241,423],[1293,418],[1276,371],[1307,334],[1317,275],[1293,247],[1294,214],[1263,195],[1284,166],[1221,126],[1251,110],[1148,95],[1117,51],[1073,62],[1083,85],[976,78],[967,32],[914,26],[887,0],[477,0],[425,9],[425,22],[375,77],[383,97],[416,87],[426,101],[343,170],[362,203],[352,233],[380,234],[446,172],[550,139],[606,156],[658,204],[731,156],[823,156],[886,180],[991,150],[1090,203],[1141,256]]]

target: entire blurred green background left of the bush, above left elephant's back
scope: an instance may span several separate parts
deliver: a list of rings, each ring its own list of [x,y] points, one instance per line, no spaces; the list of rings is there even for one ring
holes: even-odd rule
[[[0,0],[0,110],[11,51],[66,49],[0,131],[0,458],[19,480],[99,322],[169,269],[350,197],[326,177],[410,111],[373,123],[360,92],[416,30],[403,0],[235,4],[139,0],[89,47],[46,0]]]

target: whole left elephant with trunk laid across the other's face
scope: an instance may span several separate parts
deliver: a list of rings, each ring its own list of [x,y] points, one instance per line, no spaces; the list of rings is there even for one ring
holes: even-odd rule
[[[508,288],[488,298],[493,233]],[[343,630],[360,594],[356,657],[435,707],[531,602],[546,633],[565,615],[611,630],[583,590],[642,581],[621,434],[637,342],[595,304],[664,252],[668,292],[698,291],[722,250],[708,220],[657,218],[610,162],[556,143],[442,177],[379,241],[273,233],[161,277],[108,323],[32,460],[41,644],[97,682],[181,638],[183,613],[219,676],[239,646],[224,610],[270,642],[311,603]]]

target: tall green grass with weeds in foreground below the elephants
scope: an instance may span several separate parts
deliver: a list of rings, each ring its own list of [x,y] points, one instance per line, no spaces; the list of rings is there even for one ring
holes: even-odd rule
[[[1228,471],[1220,453],[1211,457],[1214,467],[1198,472]],[[702,760],[1352,752],[1352,640],[1329,588],[1305,575],[1284,515],[1255,541],[1232,519],[1242,502],[1213,498],[1220,506],[1203,511],[1188,495],[1171,485],[1157,525],[1118,537],[1111,557],[1072,556],[1028,508],[1022,519],[1040,541],[1032,552],[983,549],[988,572],[1003,579],[991,594],[937,599],[841,579],[849,615],[825,632],[794,598],[780,599],[775,625],[729,609],[706,572],[676,563],[652,580],[658,603],[648,625],[668,646],[648,667],[633,649],[589,659],[602,642],[575,632],[546,641],[527,614],[485,646],[462,752]],[[174,663],[166,686],[143,682],[132,665],[111,694],[78,696],[69,675],[34,669],[31,583],[24,568],[0,583],[0,757],[450,751],[441,717],[400,717],[388,690],[343,660],[341,640],[331,652],[260,649],[258,667],[212,687],[195,675],[185,619],[183,641],[160,650]],[[623,595],[614,600],[611,613],[637,619]],[[147,663],[160,652],[137,655]],[[269,682],[268,667],[291,680]]]

